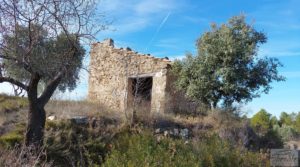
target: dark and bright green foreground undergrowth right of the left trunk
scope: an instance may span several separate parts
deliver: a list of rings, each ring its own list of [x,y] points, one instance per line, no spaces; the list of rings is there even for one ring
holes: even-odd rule
[[[151,129],[137,131],[127,126],[105,134],[108,132],[100,127],[69,121],[47,122],[45,155],[41,160],[54,166],[269,165],[265,154],[232,145],[217,135],[182,140],[154,135]],[[13,148],[13,143],[8,144]]]

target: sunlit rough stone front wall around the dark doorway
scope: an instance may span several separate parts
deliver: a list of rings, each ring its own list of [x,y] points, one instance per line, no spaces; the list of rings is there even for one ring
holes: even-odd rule
[[[90,56],[90,101],[112,110],[125,111],[129,78],[147,76],[153,77],[151,112],[164,112],[169,60],[138,54],[129,48],[117,49],[111,39],[94,43]]]

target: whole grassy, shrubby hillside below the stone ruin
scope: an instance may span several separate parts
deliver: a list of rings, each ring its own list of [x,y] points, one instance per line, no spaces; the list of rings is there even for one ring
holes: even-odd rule
[[[1,152],[11,152],[1,155],[3,163],[20,153],[14,145],[23,141],[26,100],[1,95],[0,108]],[[46,122],[45,156],[35,160],[50,166],[268,165],[267,154],[256,153],[258,143],[251,139],[255,134],[245,121],[225,112],[206,116],[138,112],[135,123],[129,124],[125,114],[84,101],[51,101],[46,110],[54,119]]]

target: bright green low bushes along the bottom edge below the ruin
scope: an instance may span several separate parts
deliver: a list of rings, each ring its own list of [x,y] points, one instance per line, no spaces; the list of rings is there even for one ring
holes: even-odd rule
[[[103,166],[252,167],[268,164],[260,154],[234,148],[218,136],[184,143],[170,138],[157,141],[150,132],[143,132],[120,134]]]

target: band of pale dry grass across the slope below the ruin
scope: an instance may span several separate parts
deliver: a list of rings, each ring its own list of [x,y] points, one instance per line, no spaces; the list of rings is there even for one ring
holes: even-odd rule
[[[136,115],[138,119],[137,123],[140,123],[143,126],[154,128],[161,124],[170,127],[180,126],[196,131],[195,133],[197,133],[197,131],[207,131],[208,129],[210,131],[217,132],[224,128],[240,126],[240,121],[238,119],[234,118],[232,114],[224,111],[207,111],[206,115],[183,115],[171,112],[150,112],[149,107],[143,106],[136,108]],[[45,110],[47,116],[55,116],[55,120],[66,120],[75,116],[87,116],[89,120],[117,120],[116,122],[118,122],[118,126],[132,125],[133,110],[125,113],[120,111],[111,111],[100,104],[90,103],[88,101],[51,100],[46,105]],[[4,132],[12,129],[13,125],[17,122],[25,122],[26,115],[26,111],[10,112],[10,114],[2,117],[0,115],[2,122],[6,122],[6,130]],[[8,124],[7,122],[10,122],[11,124]],[[1,134],[3,133],[1,133],[0,128],[0,135]]]

